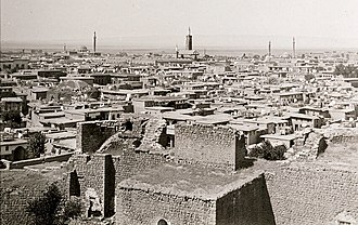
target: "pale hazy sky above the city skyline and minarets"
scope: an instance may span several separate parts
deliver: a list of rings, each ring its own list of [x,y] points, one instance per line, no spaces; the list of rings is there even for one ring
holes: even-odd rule
[[[1,42],[358,48],[357,0],[1,0]]]

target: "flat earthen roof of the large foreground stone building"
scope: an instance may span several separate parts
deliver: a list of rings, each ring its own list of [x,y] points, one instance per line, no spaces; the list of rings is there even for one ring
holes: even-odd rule
[[[216,200],[239,189],[263,174],[260,170],[240,170],[228,173],[193,164],[167,163],[131,176],[119,183],[119,188],[151,190],[203,200]]]

